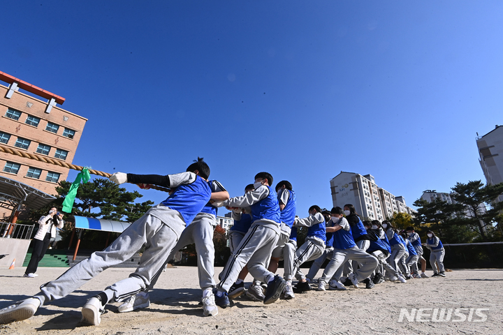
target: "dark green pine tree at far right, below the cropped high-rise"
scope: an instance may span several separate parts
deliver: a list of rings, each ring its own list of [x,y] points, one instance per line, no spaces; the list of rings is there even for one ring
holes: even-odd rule
[[[453,204],[447,204],[447,211],[455,213],[451,224],[464,225],[477,232],[483,241],[500,237],[495,225],[501,222],[503,202],[495,200],[503,193],[503,183],[484,186],[482,181],[456,183],[452,188]],[[488,208],[486,207],[488,206]]]

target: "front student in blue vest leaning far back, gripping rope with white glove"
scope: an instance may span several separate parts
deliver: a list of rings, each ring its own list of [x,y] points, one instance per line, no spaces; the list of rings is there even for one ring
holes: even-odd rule
[[[82,307],[82,322],[99,325],[108,301],[123,301],[145,291],[152,278],[161,273],[170,251],[196,215],[211,197],[207,184],[210,168],[198,158],[187,172],[168,174],[126,174],[116,172],[110,176],[115,184],[155,184],[175,191],[161,204],[152,207],[145,215],[126,228],[103,251],[96,251],[54,281],[41,286],[41,292],[0,311],[0,322],[7,323],[31,318],[38,307],[47,301],[66,297],[101,271],[130,259],[142,246],[140,265],[133,274],[119,281],[87,301]]]

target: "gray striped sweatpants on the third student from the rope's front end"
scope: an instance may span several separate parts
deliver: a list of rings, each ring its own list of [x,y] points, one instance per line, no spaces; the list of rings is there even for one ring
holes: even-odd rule
[[[279,235],[274,229],[261,223],[253,223],[227,261],[218,287],[228,292],[238,279],[242,268],[247,264],[251,276],[267,283],[268,276],[274,276],[271,271],[268,271],[267,264],[278,238]]]

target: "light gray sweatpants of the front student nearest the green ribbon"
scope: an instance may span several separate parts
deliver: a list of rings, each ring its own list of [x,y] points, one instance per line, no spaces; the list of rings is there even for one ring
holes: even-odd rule
[[[80,288],[101,271],[130,259],[145,244],[146,248],[140,258],[136,271],[107,289],[112,290],[114,301],[123,301],[147,290],[154,276],[159,276],[168,255],[175,247],[177,237],[185,228],[182,216],[173,209],[163,210],[163,219],[145,214],[126,228],[115,241],[103,251],[96,251],[86,260],[78,263],[54,281],[41,286],[38,293],[45,301],[52,301],[69,295]]]

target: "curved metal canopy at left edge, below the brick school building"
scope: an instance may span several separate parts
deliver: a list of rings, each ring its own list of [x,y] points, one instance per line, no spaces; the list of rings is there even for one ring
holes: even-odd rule
[[[22,204],[31,209],[41,209],[56,198],[23,184],[20,181],[0,176],[0,207],[19,211]]]

